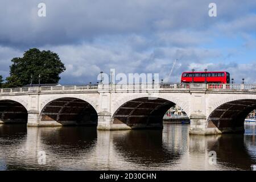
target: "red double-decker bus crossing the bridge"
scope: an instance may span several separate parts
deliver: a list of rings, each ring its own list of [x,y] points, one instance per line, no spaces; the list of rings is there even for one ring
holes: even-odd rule
[[[229,72],[183,72],[181,82],[207,82],[229,84]]]

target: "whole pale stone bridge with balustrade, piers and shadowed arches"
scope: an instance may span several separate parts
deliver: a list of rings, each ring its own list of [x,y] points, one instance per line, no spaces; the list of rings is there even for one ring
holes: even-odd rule
[[[175,104],[189,116],[190,134],[244,133],[243,121],[256,108],[256,85],[98,84],[0,89],[0,123],[162,129],[164,113]]]

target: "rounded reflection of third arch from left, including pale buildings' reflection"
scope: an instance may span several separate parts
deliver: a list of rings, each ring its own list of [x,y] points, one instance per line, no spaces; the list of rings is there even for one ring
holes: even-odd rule
[[[179,130],[179,132],[175,132]],[[164,130],[131,130],[125,134],[113,132],[115,153],[126,162],[122,169],[163,169],[174,165],[187,150],[187,132],[181,127],[164,125]]]

